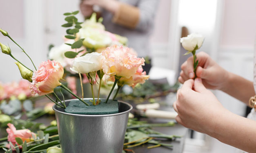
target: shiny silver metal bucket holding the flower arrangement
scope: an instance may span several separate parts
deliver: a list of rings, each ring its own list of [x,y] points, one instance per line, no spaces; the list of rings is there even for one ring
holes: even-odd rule
[[[116,114],[80,115],[54,105],[62,153],[122,153],[132,106],[118,101],[118,107]]]

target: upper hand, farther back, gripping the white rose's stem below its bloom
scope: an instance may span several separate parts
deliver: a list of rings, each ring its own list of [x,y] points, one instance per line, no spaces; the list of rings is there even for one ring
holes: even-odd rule
[[[203,85],[209,89],[223,90],[225,83],[229,78],[229,72],[221,68],[211,57],[205,52],[196,54],[198,59],[198,68],[196,69],[196,76],[202,78]],[[184,83],[188,79],[193,79],[194,74],[193,56],[189,57],[181,65],[180,83]]]

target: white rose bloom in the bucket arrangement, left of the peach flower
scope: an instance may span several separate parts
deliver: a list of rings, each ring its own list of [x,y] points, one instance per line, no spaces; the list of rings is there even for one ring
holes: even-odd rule
[[[101,57],[101,53],[98,52],[92,52],[85,56],[76,57],[73,61],[73,67],[70,68],[70,70],[82,74],[98,71],[102,69]]]

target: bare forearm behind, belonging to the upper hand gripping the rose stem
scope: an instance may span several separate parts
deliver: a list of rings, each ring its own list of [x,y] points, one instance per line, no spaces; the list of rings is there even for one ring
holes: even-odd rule
[[[253,82],[231,72],[228,73],[229,77],[222,91],[248,105],[249,98],[255,95]]]

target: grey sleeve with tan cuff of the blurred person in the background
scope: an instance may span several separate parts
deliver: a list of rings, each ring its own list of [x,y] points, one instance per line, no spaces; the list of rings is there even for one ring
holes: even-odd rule
[[[139,0],[138,7],[120,3],[112,22],[127,28],[147,31],[154,23],[157,6],[157,0]]]

